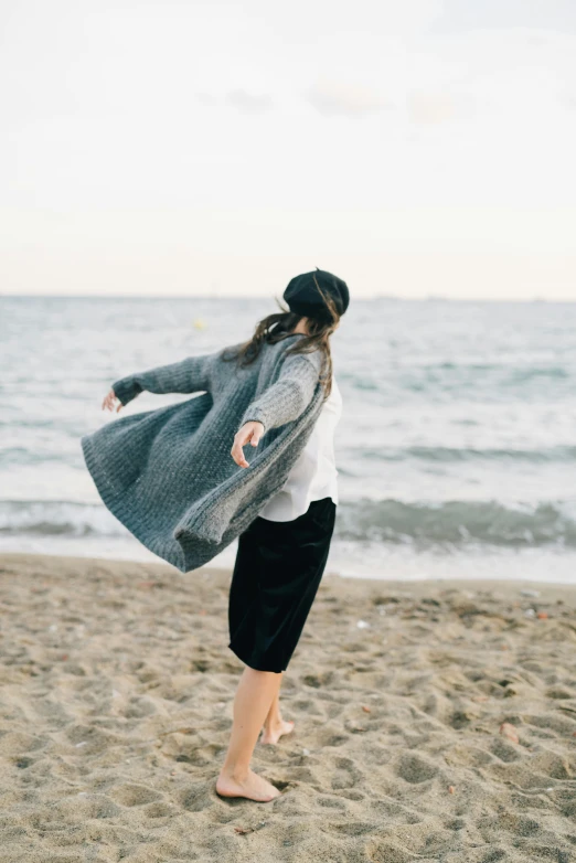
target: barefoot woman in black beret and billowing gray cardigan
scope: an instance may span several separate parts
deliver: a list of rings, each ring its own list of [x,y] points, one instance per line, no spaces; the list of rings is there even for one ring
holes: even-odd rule
[[[294,723],[280,715],[279,688],[320,584],[334,528],[333,429],[341,398],[332,375],[330,335],[350,298],[344,281],[317,269],[291,279],[284,299],[289,310],[262,320],[248,342],[120,379],[103,408],[114,409],[118,399],[119,411],[142,390],[204,390],[203,404],[204,396],[196,396],[124,417],[113,424],[126,424],[121,434],[109,437],[108,424],[82,439],[104,502],[148,547],[183,572],[238,536],[228,648],[246,668],[216,791],[262,802],[280,792],[250,769],[252,756],[263,726],[260,742],[267,744],[292,731]],[[228,365],[226,386],[223,364]],[[238,404],[232,406],[238,394]],[[230,451],[233,471],[230,464],[224,468],[221,448],[230,412],[238,424]],[[260,440],[262,451],[250,465],[243,448],[257,447]],[[211,446],[203,448],[203,441]],[[192,452],[202,460],[189,477]],[[195,492],[182,491],[182,472],[186,488],[192,483]],[[146,512],[142,489],[148,493]],[[167,505],[157,497],[160,492]]]

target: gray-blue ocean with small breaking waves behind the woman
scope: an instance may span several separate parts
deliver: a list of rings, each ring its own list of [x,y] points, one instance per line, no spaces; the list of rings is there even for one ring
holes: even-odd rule
[[[247,339],[276,309],[0,297],[0,551],[159,561],[102,504],[79,439],[115,422],[113,381]],[[576,583],[576,303],[353,299],[332,354],[328,571]],[[188,397],[142,393],[121,415]]]

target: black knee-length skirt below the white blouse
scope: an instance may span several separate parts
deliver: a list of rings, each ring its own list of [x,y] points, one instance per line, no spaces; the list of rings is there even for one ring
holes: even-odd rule
[[[285,671],[324,572],[332,498],[291,521],[258,515],[238,537],[228,600],[228,648],[258,671]]]

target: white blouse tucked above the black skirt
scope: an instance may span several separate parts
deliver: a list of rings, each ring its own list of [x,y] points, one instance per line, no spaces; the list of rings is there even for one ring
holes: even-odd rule
[[[316,420],[303,451],[281,489],[258,513],[270,521],[291,521],[302,515],[312,500],[332,498],[338,503],[338,470],[334,429],[342,415],[342,396],[332,376],[332,390]]]

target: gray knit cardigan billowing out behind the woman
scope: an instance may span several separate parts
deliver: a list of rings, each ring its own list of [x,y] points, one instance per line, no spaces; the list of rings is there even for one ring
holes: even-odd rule
[[[310,437],[323,403],[322,358],[319,350],[286,355],[298,338],[266,343],[245,367],[224,361],[221,350],[122,377],[113,388],[124,405],[143,390],[196,395],[120,416],[81,438],[106,507],[183,573],[248,526]],[[250,419],[264,434],[257,447],[247,445],[249,467],[241,468],[231,449]]]

